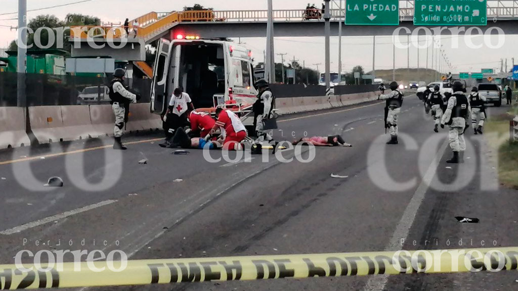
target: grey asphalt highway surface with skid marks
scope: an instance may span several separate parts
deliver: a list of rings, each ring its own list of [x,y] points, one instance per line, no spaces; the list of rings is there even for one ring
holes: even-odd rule
[[[434,133],[433,119],[410,95],[400,143],[386,146],[383,107],[375,101],[279,119],[277,140],[341,134],[353,144],[316,148],[310,162],[299,161],[311,157],[303,148],[289,163],[271,154],[269,161],[210,163],[202,151],[160,148],[159,133],[124,137],[125,152],[111,150],[108,139],[0,152],[0,261],[42,249],[152,259],[515,246],[517,192],[498,184],[484,139],[469,128],[466,163],[445,164],[447,129]],[[64,187],[42,186],[52,176]],[[516,290],[516,279],[481,272],[89,289]]]

